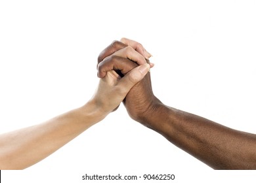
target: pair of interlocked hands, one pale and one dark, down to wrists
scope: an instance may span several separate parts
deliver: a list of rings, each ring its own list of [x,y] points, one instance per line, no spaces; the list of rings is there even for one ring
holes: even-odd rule
[[[92,101],[106,115],[119,106],[121,101],[134,120],[154,110],[158,99],[152,92],[149,54],[139,42],[129,39],[114,41],[98,56],[100,82]]]

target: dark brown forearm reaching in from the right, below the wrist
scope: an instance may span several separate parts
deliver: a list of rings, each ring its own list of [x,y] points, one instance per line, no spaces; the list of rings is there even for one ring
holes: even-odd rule
[[[213,169],[256,169],[256,135],[158,103],[140,122]],[[153,112],[153,111],[152,111]]]

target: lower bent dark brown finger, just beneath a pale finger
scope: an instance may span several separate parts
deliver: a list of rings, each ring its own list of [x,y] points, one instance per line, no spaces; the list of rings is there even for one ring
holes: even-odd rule
[[[138,64],[127,58],[121,58],[119,56],[108,56],[102,62],[98,64],[98,77],[104,78],[108,71],[121,71],[123,75],[126,75],[131,69],[137,67]]]

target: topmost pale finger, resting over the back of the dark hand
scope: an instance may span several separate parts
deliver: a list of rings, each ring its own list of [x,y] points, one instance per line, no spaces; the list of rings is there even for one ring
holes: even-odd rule
[[[146,59],[149,59],[152,56],[148,51],[146,51],[144,46],[142,46],[142,44],[140,44],[137,41],[133,41],[131,39],[127,39],[127,38],[124,38],[124,37],[120,41],[123,42],[124,44],[126,44],[127,46],[131,46],[137,52],[142,54],[142,56],[144,56],[144,58],[146,58]]]

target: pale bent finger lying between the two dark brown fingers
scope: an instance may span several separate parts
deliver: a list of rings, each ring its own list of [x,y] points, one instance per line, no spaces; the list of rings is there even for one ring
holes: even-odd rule
[[[139,54],[139,52],[135,51],[131,46],[122,48],[121,50],[114,52],[113,55],[119,56],[122,58],[131,59],[132,61],[135,61],[139,65],[146,63],[146,59],[141,54]]]

